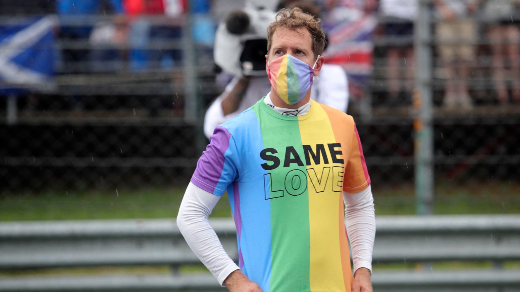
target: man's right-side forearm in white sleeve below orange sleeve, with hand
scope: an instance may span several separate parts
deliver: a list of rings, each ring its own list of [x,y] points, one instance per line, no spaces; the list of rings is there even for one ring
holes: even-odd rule
[[[343,192],[345,220],[354,263],[353,292],[372,291],[372,251],[375,238],[375,213],[372,189]]]

